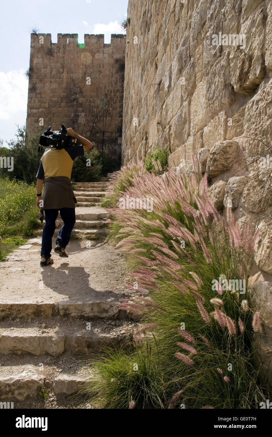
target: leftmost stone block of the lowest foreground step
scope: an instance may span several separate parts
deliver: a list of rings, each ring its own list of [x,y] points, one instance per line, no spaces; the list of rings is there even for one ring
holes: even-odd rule
[[[0,399],[24,399],[37,396],[37,387],[44,386],[44,376],[33,366],[17,375],[0,375]],[[16,406],[15,406],[16,408]]]

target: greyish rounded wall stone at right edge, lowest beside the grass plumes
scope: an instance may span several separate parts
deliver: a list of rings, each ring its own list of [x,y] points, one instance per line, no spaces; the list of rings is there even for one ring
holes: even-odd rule
[[[251,308],[259,311],[262,323],[272,329],[272,282],[257,281],[249,290]]]

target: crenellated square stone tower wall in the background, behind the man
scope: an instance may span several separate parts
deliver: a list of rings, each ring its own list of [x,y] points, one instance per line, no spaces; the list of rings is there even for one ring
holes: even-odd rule
[[[104,35],[84,35],[78,44],[77,34],[58,34],[57,43],[51,34],[31,34],[27,132],[65,124],[121,160],[125,47],[124,35],[111,35],[110,44]],[[113,109],[101,115],[97,97]],[[95,126],[100,118],[104,141]]]

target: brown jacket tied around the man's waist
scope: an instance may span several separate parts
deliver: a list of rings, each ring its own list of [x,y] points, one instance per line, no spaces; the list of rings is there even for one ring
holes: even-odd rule
[[[42,200],[43,207],[40,209],[41,223],[43,222],[45,209],[75,208],[77,200],[69,177],[56,176],[45,178]]]

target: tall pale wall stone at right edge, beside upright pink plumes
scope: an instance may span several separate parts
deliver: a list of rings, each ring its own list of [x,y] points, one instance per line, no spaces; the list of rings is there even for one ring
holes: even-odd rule
[[[255,262],[260,270],[272,274],[272,226],[262,220],[258,225],[258,239],[254,246]]]

